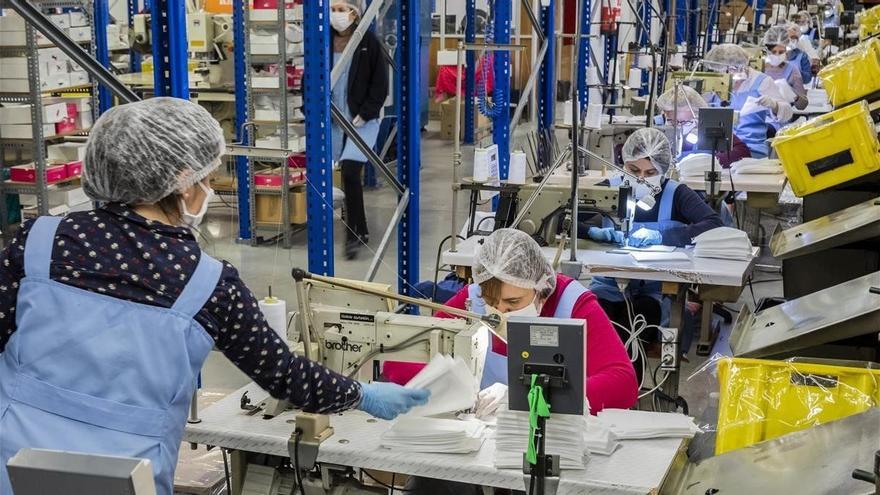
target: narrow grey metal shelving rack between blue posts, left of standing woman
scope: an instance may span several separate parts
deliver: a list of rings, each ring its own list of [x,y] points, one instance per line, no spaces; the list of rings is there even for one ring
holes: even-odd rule
[[[280,149],[281,150],[290,150],[290,133],[288,126],[291,123],[289,115],[290,110],[287,107],[288,98],[293,94],[294,89],[287,87],[287,65],[292,61],[292,59],[300,56],[299,54],[288,54],[287,53],[287,33],[286,33],[286,25],[288,22],[298,22],[302,23],[302,20],[288,20],[287,19],[287,10],[286,2],[283,0],[279,0],[278,7],[276,10],[276,18],[274,21],[267,20],[253,20],[251,19],[251,8],[248,5],[248,2],[242,2],[242,9],[244,15],[244,60],[245,60],[245,70],[251,71],[254,65],[265,65],[265,64],[277,64],[278,67],[278,96],[279,96],[279,109],[280,115],[278,118],[278,122],[268,122],[268,121],[256,121],[255,119],[255,96],[258,94],[267,94],[272,93],[271,89],[256,89],[253,87],[253,77],[248,74],[245,77],[246,83],[246,121],[244,123],[245,127],[251,129],[251,132],[246,133],[246,142],[247,146],[253,147],[256,141],[257,130],[260,127],[276,127],[278,128],[278,134],[280,137]],[[275,32],[278,35],[278,54],[277,55],[254,55],[251,54],[251,46],[250,46],[250,34],[251,29],[253,27],[274,27]],[[238,40],[236,40],[238,43]],[[258,241],[258,237],[256,235],[257,230],[273,230],[278,232],[280,227],[281,232],[278,235],[281,238],[281,245],[285,249],[290,249],[293,245],[293,234],[295,231],[301,230],[302,227],[293,227],[290,223],[290,192],[291,186],[290,182],[290,168],[287,164],[287,154],[278,153],[279,150],[273,150],[274,153],[267,153],[265,156],[259,156],[259,148],[254,151],[254,155],[247,158],[247,197],[248,197],[248,205],[247,211],[240,209],[239,215],[247,215],[249,218],[249,229],[246,229],[244,225],[242,225],[242,220],[240,219],[241,230],[244,232],[245,230],[249,230],[249,236],[242,236],[243,240],[249,240],[250,243],[256,244]],[[291,153],[292,154],[292,153]],[[254,162],[255,161],[262,162],[277,162],[281,168],[281,186],[278,188],[276,192],[274,189],[265,189],[261,188],[257,191],[257,187],[254,184]],[[239,186],[241,187],[241,186]],[[278,194],[281,196],[281,219],[279,225],[273,224],[260,224],[257,222],[256,218],[256,201],[257,201],[257,193],[263,195],[270,194]],[[239,195],[241,198],[241,195]]]

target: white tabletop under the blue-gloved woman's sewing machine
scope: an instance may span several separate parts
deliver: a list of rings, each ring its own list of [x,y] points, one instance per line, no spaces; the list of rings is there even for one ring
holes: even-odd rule
[[[459,242],[456,245],[456,252],[444,251],[440,256],[440,262],[445,265],[473,266],[474,247],[478,240],[479,236],[473,236]],[[614,250],[614,246],[589,241],[581,242],[589,248],[578,249],[578,261],[586,268],[584,275],[590,276],[742,287],[755,263],[754,257],[750,261],[696,258],[693,256],[693,248],[676,249],[687,254],[689,261],[640,263],[629,254],[609,252]],[[543,250],[547,259],[552,261],[556,257],[556,248],[545,247]],[[757,256],[758,251],[758,248],[754,248],[753,254]],[[562,259],[567,259],[568,254],[569,251],[566,250]]]

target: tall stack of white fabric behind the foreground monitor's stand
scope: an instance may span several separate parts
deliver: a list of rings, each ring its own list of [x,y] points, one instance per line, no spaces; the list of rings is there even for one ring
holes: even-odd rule
[[[547,419],[544,450],[558,455],[562,469],[584,469],[588,455],[584,441],[587,419],[584,416],[555,414]],[[499,411],[495,432],[495,467],[521,469],[529,441],[529,413]]]

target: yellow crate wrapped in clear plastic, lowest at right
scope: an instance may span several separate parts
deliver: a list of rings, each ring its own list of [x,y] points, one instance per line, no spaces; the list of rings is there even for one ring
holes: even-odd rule
[[[864,412],[880,404],[880,370],[726,358],[715,454]]]

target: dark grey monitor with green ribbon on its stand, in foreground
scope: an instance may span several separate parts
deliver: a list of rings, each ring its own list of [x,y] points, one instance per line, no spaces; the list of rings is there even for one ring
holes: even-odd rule
[[[531,375],[550,379],[551,414],[584,414],[586,397],[584,320],[511,317],[507,321],[507,386],[512,411],[528,411]]]

